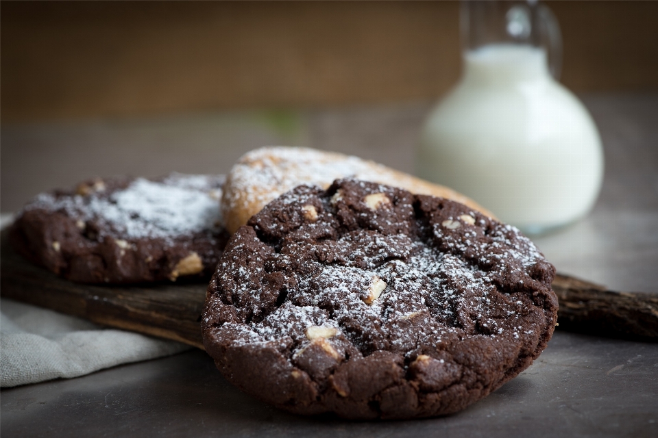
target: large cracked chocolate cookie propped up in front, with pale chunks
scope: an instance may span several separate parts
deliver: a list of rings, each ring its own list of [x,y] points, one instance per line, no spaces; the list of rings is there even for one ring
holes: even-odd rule
[[[544,350],[554,274],[517,229],[465,205],[356,180],[301,186],[231,238],[204,346],[229,381],[293,413],[453,413]]]

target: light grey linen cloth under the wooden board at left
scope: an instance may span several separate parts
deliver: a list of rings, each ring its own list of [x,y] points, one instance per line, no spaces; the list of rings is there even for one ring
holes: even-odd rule
[[[10,216],[2,215],[0,228],[10,221]],[[0,298],[1,387],[83,376],[190,348]]]

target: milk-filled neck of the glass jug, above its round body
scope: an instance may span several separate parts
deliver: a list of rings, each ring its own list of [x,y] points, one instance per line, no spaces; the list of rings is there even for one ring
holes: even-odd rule
[[[530,44],[487,44],[463,54],[463,82],[502,85],[550,81],[546,51]]]

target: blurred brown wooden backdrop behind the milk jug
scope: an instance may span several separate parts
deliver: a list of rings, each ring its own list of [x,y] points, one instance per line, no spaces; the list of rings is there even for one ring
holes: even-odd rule
[[[658,88],[658,2],[548,2],[576,92]],[[431,101],[456,2],[0,3],[1,121]]]

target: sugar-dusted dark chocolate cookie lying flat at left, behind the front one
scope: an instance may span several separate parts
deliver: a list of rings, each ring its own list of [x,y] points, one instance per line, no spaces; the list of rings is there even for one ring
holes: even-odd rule
[[[14,222],[10,241],[72,281],[208,278],[228,240],[219,213],[222,183],[220,176],[177,173],[86,181],[36,196]]]

